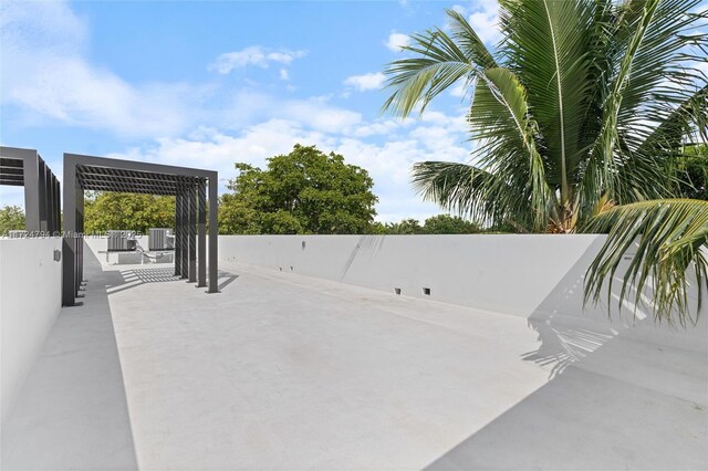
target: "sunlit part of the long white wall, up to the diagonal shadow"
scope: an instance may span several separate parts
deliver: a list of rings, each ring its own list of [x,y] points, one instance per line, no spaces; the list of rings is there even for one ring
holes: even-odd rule
[[[222,236],[219,258],[528,316],[598,243],[600,236]]]

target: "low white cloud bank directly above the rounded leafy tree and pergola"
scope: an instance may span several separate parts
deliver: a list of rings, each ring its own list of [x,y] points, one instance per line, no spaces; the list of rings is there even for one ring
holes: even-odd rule
[[[425,219],[441,212],[435,205],[423,203],[410,188],[410,168],[423,160],[466,161],[469,148],[462,116],[431,111],[425,119],[375,119],[356,116],[351,130],[323,125],[334,119],[347,123],[351,112],[334,108],[325,100],[285,104],[283,115],[227,132],[199,127],[186,137],[160,138],[142,148],[127,149],[110,157],[149,160],[163,164],[210,168],[219,171],[221,191],[236,176],[233,164],[248,163],[261,168],[268,157],[287,154],[295,144],[316,145],[323,151],[342,154],[347,164],[365,168],[374,179],[379,197],[377,219],[384,222],[405,218]],[[302,114],[316,115],[305,122]],[[425,115],[424,115],[425,116]],[[375,129],[375,132],[364,132]],[[385,134],[386,138],[377,136]]]

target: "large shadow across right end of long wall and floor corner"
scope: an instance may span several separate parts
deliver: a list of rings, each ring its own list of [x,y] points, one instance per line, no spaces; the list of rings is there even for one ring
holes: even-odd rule
[[[610,318],[606,305],[583,311],[601,243],[529,316],[541,344],[522,357],[548,368],[549,383],[428,469],[708,469],[705,308],[687,328],[635,317],[631,303],[620,311],[616,296]]]

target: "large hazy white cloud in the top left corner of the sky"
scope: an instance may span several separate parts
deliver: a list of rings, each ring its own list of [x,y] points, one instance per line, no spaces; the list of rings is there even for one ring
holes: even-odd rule
[[[3,2],[0,101],[62,124],[129,136],[174,135],[189,125],[204,90],[186,84],[133,85],[93,66],[87,25],[61,2]]]

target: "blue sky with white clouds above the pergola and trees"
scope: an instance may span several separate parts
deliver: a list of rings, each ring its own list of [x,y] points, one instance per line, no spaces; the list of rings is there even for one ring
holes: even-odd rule
[[[3,1],[0,142],[216,169],[264,166],[296,143],[366,168],[378,220],[440,212],[410,189],[415,161],[465,161],[465,101],[421,118],[382,115],[384,65],[407,34],[457,8],[489,44],[496,1]],[[22,193],[0,187],[2,205]]]

